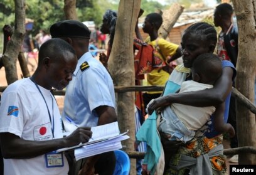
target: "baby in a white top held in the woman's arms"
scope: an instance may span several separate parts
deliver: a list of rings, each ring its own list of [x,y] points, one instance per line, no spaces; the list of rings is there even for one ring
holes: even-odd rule
[[[213,88],[213,84],[221,75],[221,60],[213,53],[198,56],[193,62],[192,79],[181,84],[179,93],[193,92]],[[225,103],[223,103],[225,105]],[[163,109],[159,123],[159,131],[164,132],[164,137],[170,141],[191,141],[197,132],[210,120],[215,107],[193,107],[179,103],[172,103]],[[223,122],[224,107],[215,113],[214,125],[218,132],[228,132],[230,137],[235,135],[232,125]],[[201,133],[202,135],[203,133]]]

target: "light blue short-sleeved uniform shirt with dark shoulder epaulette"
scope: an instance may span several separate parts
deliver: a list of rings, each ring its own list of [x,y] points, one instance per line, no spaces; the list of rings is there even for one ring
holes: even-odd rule
[[[114,84],[106,68],[87,52],[78,60],[67,86],[62,114],[65,130],[76,129],[66,116],[79,127],[96,126],[99,116],[94,109],[101,105],[115,107]]]

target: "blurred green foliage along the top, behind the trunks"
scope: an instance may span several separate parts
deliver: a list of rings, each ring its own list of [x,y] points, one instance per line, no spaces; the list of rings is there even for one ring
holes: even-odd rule
[[[102,23],[102,16],[107,9],[118,10],[119,0],[77,0],[77,16],[80,21],[94,21],[97,26]],[[26,18],[33,19],[31,31],[35,36],[40,29],[48,31],[51,24],[65,19],[64,0],[26,0]],[[3,50],[3,26],[14,26],[14,0],[0,0],[0,53]],[[142,0],[141,8],[144,16],[148,13],[164,9],[165,6],[151,0]]]

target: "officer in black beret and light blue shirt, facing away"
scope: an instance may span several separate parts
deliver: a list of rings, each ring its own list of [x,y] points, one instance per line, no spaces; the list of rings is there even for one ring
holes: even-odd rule
[[[74,124],[84,127],[109,124],[117,121],[113,80],[100,61],[88,51],[90,29],[76,20],[58,21],[51,25],[52,38],[67,41],[76,52],[78,63],[73,80],[67,86],[62,119],[65,130],[75,129]],[[113,151],[76,161],[70,157],[72,174],[113,174],[115,154]]]

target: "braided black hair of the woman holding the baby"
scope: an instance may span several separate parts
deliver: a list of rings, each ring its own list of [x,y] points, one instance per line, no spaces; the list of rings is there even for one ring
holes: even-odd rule
[[[205,22],[192,24],[184,33],[195,33],[198,36],[206,36],[206,40],[212,41],[214,45],[217,43],[216,29],[211,24]]]

